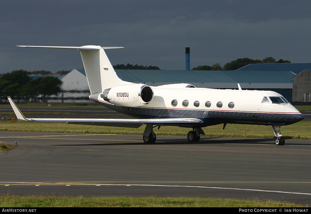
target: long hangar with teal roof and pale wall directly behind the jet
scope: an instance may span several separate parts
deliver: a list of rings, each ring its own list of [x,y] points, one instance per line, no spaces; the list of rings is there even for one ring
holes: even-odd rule
[[[202,71],[202,70],[115,70],[124,80],[159,86],[171,83],[190,83],[196,87],[276,91],[292,101],[290,71]],[[277,78],[276,78],[277,77]]]

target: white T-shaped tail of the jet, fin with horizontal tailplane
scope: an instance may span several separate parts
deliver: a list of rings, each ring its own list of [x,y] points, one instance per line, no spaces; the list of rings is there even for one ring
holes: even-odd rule
[[[91,94],[95,94],[98,92],[102,93],[105,89],[112,88],[114,86],[130,84],[130,82],[122,81],[118,77],[104,51],[105,49],[118,49],[123,47],[100,47],[95,45],[86,45],[81,47],[25,45],[18,46],[29,48],[58,48],[79,50],[81,52],[81,57]]]

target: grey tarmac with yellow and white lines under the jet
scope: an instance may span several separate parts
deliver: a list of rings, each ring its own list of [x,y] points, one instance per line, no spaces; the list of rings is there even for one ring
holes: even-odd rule
[[[0,193],[272,199],[310,205],[311,140],[0,132]]]

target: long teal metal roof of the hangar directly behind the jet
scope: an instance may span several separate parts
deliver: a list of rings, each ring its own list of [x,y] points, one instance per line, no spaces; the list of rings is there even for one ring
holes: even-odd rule
[[[290,71],[202,71],[202,70],[115,70],[124,81],[168,83],[291,83],[295,74]]]

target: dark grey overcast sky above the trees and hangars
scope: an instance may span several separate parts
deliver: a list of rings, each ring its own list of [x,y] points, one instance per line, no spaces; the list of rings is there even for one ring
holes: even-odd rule
[[[2,1],[0,72],[82,68],[80,52],[16,45],[122,46],[114,64],[190,69],[237,58],[310,63],[311,1]]]

